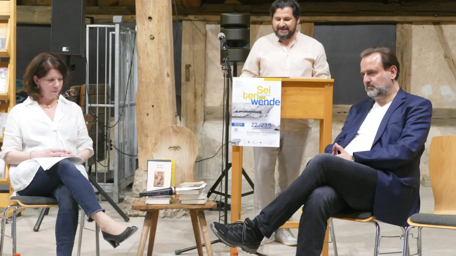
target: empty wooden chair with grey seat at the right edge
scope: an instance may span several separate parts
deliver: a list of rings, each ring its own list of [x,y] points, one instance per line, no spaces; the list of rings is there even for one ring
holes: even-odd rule
[[[456,230],[456,135],[432,138],[429,153],[429,176],[434,194],[434,213],[417,213],[410,216],[403,245],[409,247],[409,231],[418,227],[418,255],[421,250],[421,229],[437,228]],[[403,253],[403,256],[404,253]]]

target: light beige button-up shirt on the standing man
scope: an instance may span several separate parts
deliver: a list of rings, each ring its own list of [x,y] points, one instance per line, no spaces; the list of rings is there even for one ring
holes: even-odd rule
[[[275,33],[260,37],[250,49],[240,77],[331,78],[323,45],[298,31],[290,50]],[[280,130],[302,131],[313,120],[281,119]]]

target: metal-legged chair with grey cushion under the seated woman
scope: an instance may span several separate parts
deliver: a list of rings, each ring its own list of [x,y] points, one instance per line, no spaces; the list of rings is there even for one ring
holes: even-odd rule
[[[5,176],[8,175],[9,165],[5,167]],[[16,216],[17,211],[21,208],[47,208],[47,207],[58,207],[57,200],[51,197],[42,197],[42,196],[12,196],[10,201],[13,202],[12,205],[9,205],[5,208],[3,216],[1,216],[1,230],[0,230],[0,256],[3,255],[3,241],[5,237],[5,224],[11,223],[11,237],[12,246],[13,246],[13,255],[16,253]],[[7,217],[9,210],[13,210],[13,215],[11,220]],[[79,221],[79,241],[78,241],[78,256],[81,253],[81,242],[84,229],[84,211],[81,210],[81,218]],[[99,250],[99,227],[95,224],[95,244],[96,244],[96,255],[100,255]]]

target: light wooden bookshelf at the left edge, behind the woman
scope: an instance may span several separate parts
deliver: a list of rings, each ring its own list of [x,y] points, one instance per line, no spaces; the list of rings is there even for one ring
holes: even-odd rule
[[[0,57],[2,57],[0,61],[0,116],[5,116],[16,105],[16,0],[0,0]],[[8,61],[4,61],[3,58]],[[7,68],[6,74],[4,68]],[[5,85],[5,89],[3,89],[2,83]],[[0,120],[3,128],[5,119]],[[0,136],[1,143],[3,143],[3,131],[5,128],[2,129]],[[2,164],[4,171],[0,185],[9,189],[0,190],[0,208],[6,208],[12,204],[9,200],[13,189],[8,175],[8,166],[3,161]],[[18,212],[21,210],[23,209]],[[3,210],[1,215],[3,215]],[[7,215],[10,217],[12,210]]]

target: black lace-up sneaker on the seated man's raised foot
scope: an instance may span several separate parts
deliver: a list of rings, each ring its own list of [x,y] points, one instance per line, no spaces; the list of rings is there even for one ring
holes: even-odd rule
[[[243,251],[255,254],[260,246],[263,237],[259,237],[253,229],[255,224],[249,218],[245,221],[237,221],[228,225],[218,222],[212,222],[210,225],[212,231],[224,244],[230,247],[241,247]]]

